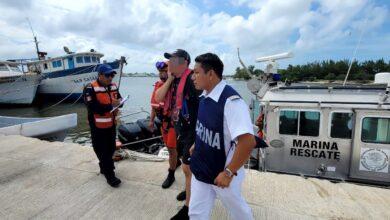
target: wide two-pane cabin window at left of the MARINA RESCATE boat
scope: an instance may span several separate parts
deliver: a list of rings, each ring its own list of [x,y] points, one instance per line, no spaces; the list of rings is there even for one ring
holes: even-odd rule
[[[315,111],[282,110],[279,117],[279,133],[318,136],[320,133],[320,113]]]

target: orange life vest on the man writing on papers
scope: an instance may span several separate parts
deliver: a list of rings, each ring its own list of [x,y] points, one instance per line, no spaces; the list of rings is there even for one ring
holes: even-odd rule
[[[112,83],[108,87],[100,86],[97,81],[91,83],[96,94],[96,99],[100,104],[112,105],[112,99],[118,99],[118,87]],[[108,90],[107,90],[108,89]],[[115,116],[118,110],[114,112],[105,112],[103,114],[94,114],[95,126],[97,128],[111,128],[115,125]]]

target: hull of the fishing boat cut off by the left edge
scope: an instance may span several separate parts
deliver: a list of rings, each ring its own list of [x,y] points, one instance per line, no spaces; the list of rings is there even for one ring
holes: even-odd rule
[[[30,105],[35,98],[40,75],[24,75],[0,82],[0,104]]]

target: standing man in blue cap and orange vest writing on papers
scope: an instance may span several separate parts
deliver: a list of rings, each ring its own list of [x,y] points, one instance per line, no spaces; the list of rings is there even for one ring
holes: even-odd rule
[[[88,109],[88,121],[91,128],[93,150],[99,159],[100,173],[104,174],[107,183],[117,187],[121,180],[115,176],[114,161],[116,123],[115,117],[121,95],[118,87],[112,83],[116,72],[108,64],[97,68],[98,79],[84,88],[84,101]]]

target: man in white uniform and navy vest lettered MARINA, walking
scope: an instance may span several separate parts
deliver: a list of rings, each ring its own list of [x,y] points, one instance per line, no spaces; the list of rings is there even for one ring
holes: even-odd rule
[[[194,84],[203,89],[191,147],[190,219],[209,219],[218,198],[232,219],[253,219],[241,195],[244,163],[256,145],[249,109],[240,95],[222,80],[223,63],[206,53],[195,59]]]

